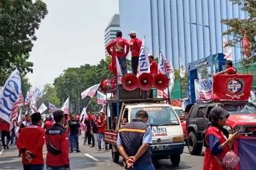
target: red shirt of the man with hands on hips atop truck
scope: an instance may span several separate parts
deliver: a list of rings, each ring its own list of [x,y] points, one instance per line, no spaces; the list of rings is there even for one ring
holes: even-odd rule
[[[123,37],[117,37],[107,45],[107,52],[112,56],[111,48],[115,46],[117,57],[125,57],[129,53],[129,42]],[[125,52],[126,46],[126,52]]]

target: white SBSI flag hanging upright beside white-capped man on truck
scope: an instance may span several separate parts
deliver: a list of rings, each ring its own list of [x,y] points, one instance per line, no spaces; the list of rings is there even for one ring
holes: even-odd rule
[[[149,57],[147,52],[147,44],[145,41],[145,36],[142,39],[141,49],[139,50],[139,66],[137,77],[139,77],[143,73],[150,72],[150,64],[149,64]]]

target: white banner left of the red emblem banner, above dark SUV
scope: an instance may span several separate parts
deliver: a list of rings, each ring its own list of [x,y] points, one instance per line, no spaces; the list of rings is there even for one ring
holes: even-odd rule
[[[194,89],[196,94],[196,101],[210,102],[213,99],[212,78],[194,80]]]

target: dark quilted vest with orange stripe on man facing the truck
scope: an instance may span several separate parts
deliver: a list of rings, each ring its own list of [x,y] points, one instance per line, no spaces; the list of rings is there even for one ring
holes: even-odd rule
[[[142,145],[143,136],[148,127],[149,124],[142,121],[135,121],[121,126],[119,136],[121,138],[123,148],[129,157],[136,155],[137,151]],[[135,164],[137,163],[152,163],[150,148],[147,149],[144,155],[142,155]]]

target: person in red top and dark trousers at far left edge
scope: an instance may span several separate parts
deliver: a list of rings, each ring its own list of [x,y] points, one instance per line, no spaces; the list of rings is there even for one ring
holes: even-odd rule
[[[11,140],[10,136],[10,124],[2,118],[0,118],[0,131],[1,131],[1,141],[3,149],[9,149],[9,142]],[[5,137],[7,138],[7,143],[5,143]]]

